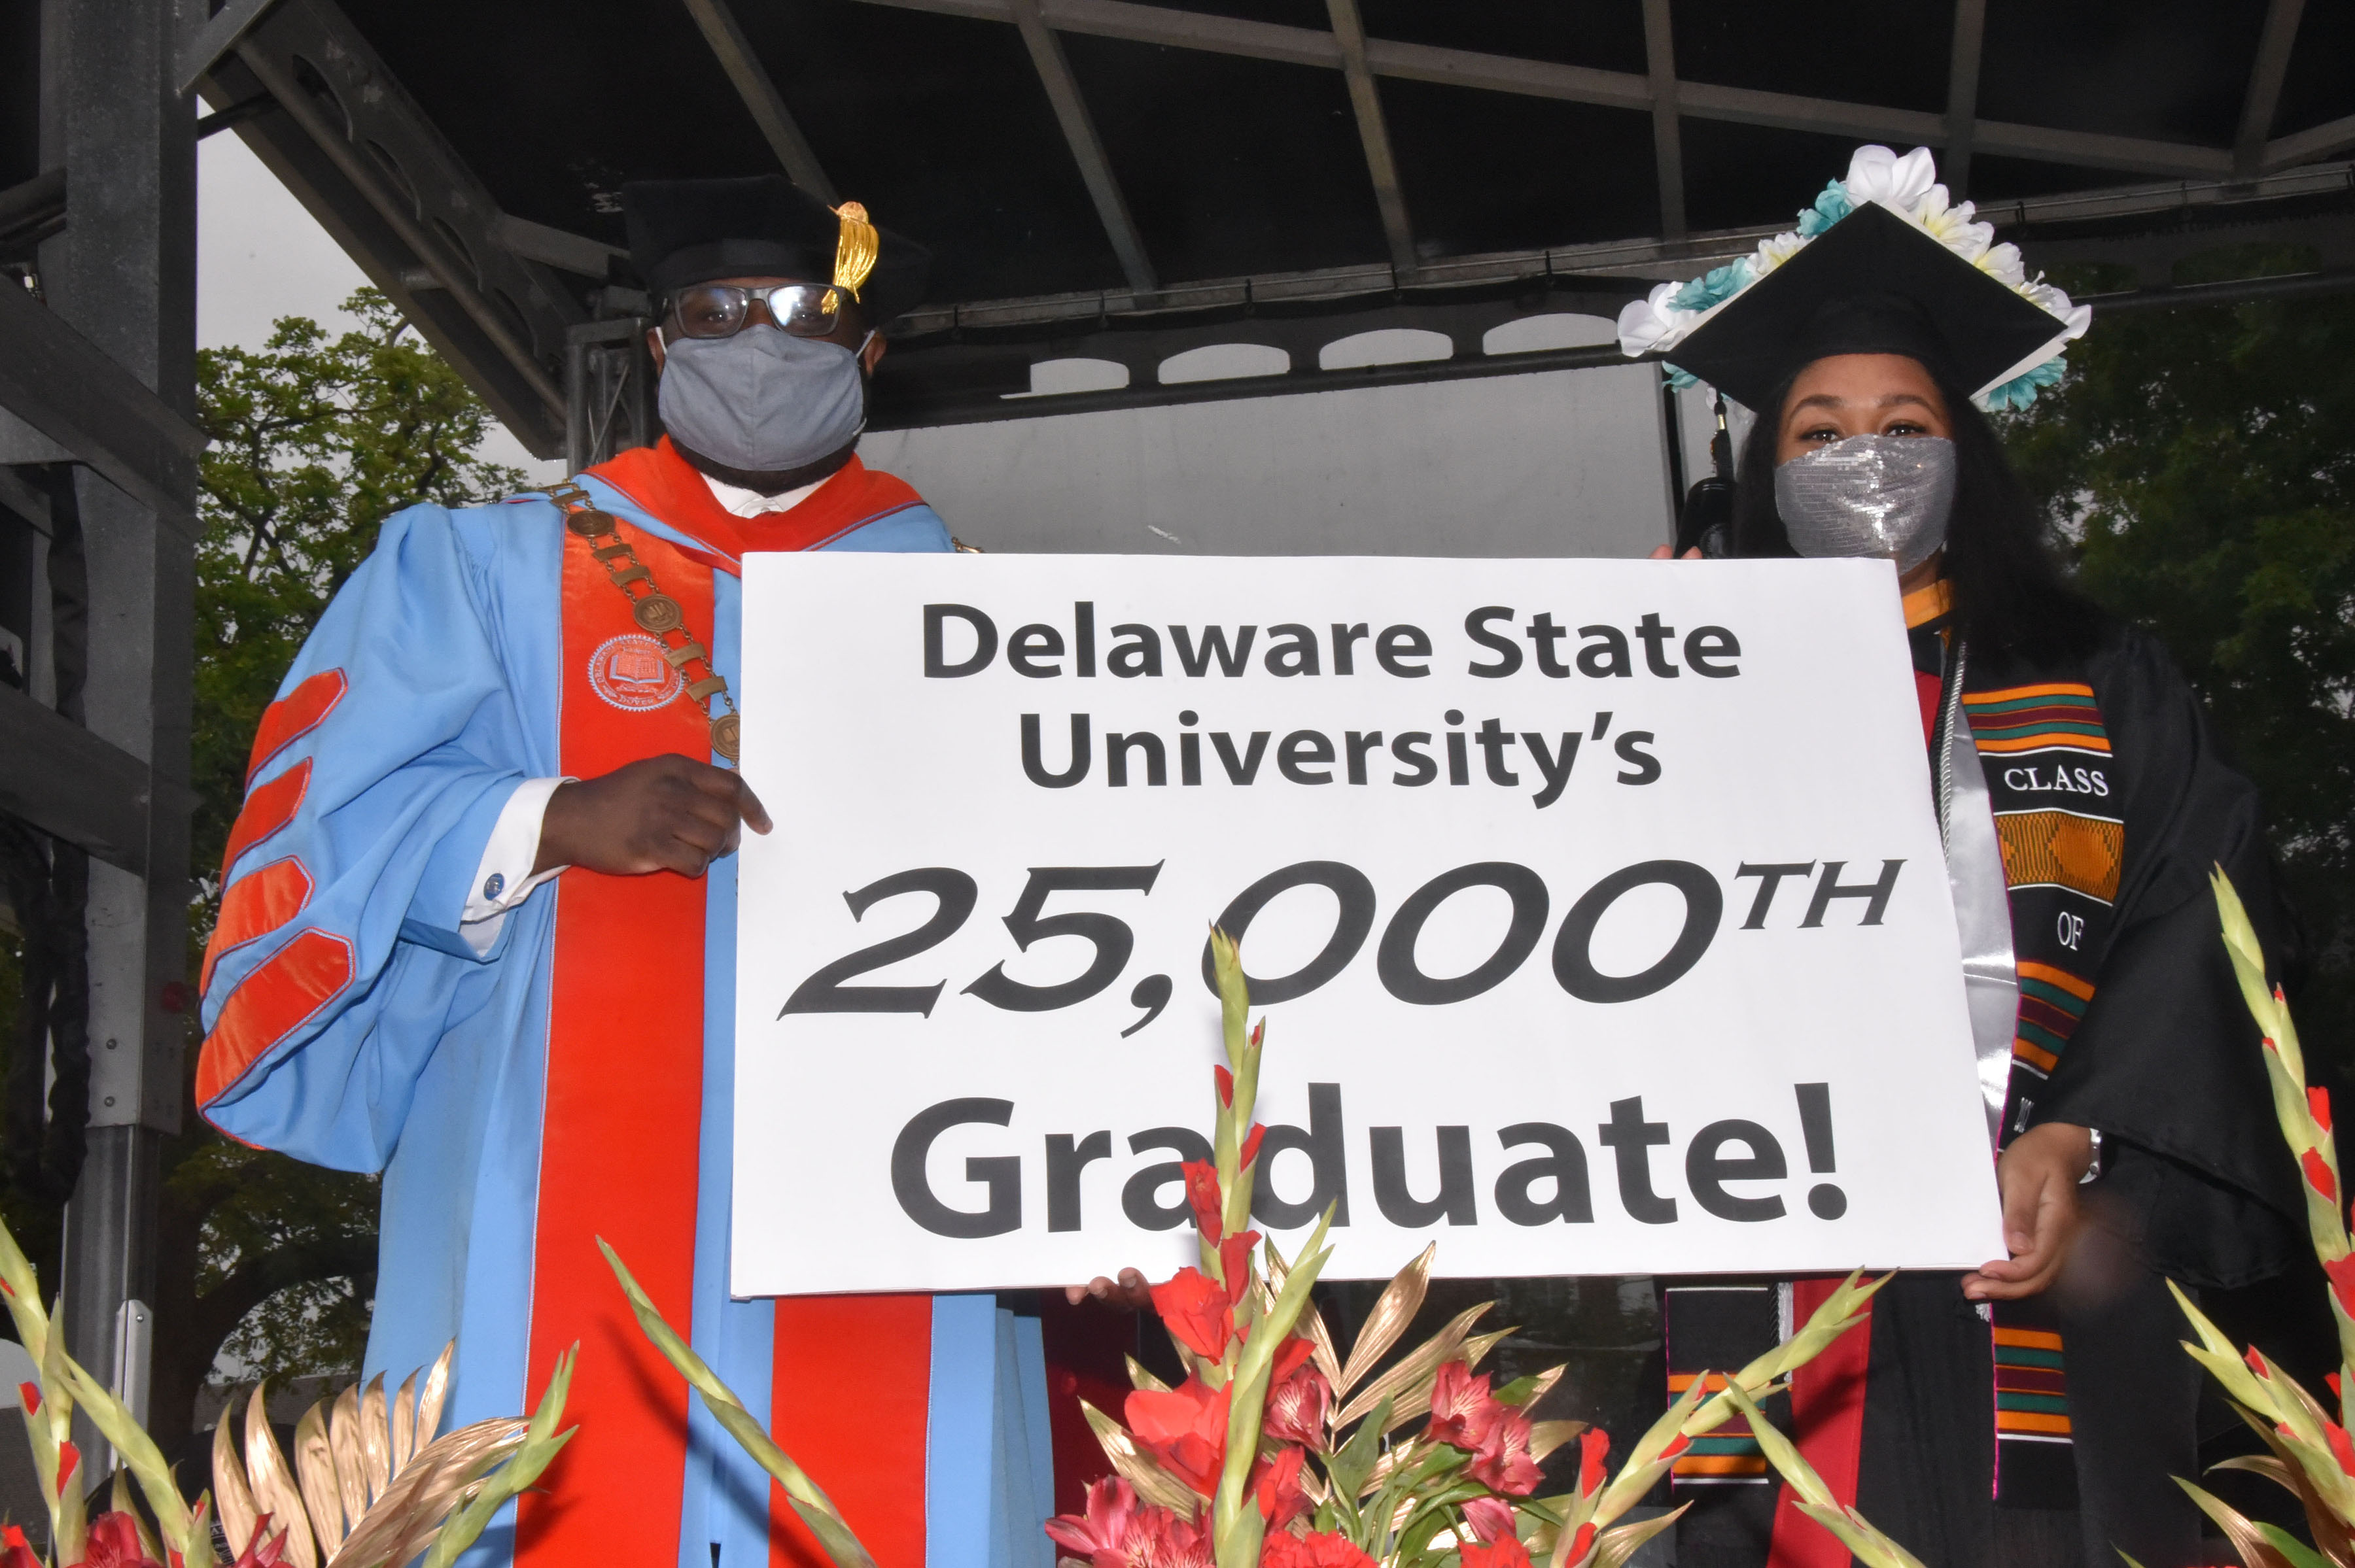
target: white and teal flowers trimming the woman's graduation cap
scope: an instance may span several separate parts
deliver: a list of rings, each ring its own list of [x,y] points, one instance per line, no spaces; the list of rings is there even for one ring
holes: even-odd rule
[[[1978,221],[1971,202],[1957,202],[1938,184],[1938,162],[1926,146],[1898,158],[1886,146],[1860,146],[1849,160],[1849,177],[1835,179],[1823,193],[1799,212],[1797,228],[1759,240],[1759,247],[1729,261],[1691,283],[1663,283],[1651,297],[1632,301],[1620,311],[1620,348],[1630,356],[1665,353],[1681,344],[1719,306],[1747,290],[1752,283],[1799,254],[1809,240],[1849,217],[1865,202],[1879,202],[1950,252],[1988,273],[2021,299],[2035,304],[2054,318],[2056,330],[2068,339],[2084,337],[2094,323],[2091,306],[2070,304],[2070,297],[2037,278],[2021,264],[2018,245],[1997,245],[1995,226]],[[1988,410],[2021,410],[2037,400],[2037,393],[2061,381],[2063,356],[2011,377],[1999,386],[1978,393],[1976,403]],[[1670,374],[1677,386],[1693,386],[1693,377],[1681,370]]]

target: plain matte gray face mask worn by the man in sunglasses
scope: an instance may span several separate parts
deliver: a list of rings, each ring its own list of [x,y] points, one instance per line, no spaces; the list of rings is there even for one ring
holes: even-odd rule
[[[678,445],[751,473],[815,464],[867,426],[860,356],[765,325],[666,344],[655,405]]]

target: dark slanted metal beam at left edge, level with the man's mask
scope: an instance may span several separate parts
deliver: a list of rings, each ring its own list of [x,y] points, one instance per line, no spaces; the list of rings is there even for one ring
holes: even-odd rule
[[[16,287],[0,287],[0,407],[195,537],[188,497],[205,433]]]

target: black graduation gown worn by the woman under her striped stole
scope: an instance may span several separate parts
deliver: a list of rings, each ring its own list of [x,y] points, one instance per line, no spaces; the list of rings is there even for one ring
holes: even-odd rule
[[[1915,664],[1950,680],[1943,631],[1943,622],[1915,631]],[[2160,1276],[2244,1285],[2308,1245],[2298,1172],[2223,951],[2209,869],[2221,864],[2240,888],[2268,954],[2291,928],[2273,892],[2256,791],[2218,753],[2160,645],[2117,626],[2075,659],[1969,655],[1966,697],[2049,685],[2091,687],[2110,746],[2098,808],[2122,822],[2115,897],[2094,904],[2098,930],[2079,932],[2065,956],[2094,996],[2049,1074],[2016,1067],[2006,1114],[2006,1135],[2046,1121],[2103,1135],[2101,1177],[2087,1189],[2094,1229],[2065,1285],[2025,1304],[2068,1344],[2075,1443],[2006,1441],[1995,1500],[1990,1326],[1959,1276],[1908,1274],[1872,1311],[1856,1504],[1929,1568],[2115,1563],[2112,1547],[2145,1568],[2176,1568],[2200,1552],[2197,1516],[2169,1481],[2197,1467],[2200,1382]],[[2051,782],[2021,775],[2016,758],[1981,760],[1997,812],[2032,805],[2023,784]],[[2044,932],[2070,909],[2089,904],[2014,885],[2018,956],[2049,956]],[[1778,1490],[1679,1488],[1677,1500],[1693,1502],[1679,1563],[1766,1563]]]

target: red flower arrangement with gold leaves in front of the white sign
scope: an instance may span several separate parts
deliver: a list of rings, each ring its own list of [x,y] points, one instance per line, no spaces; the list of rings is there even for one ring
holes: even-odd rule
[[[1733,1415],[1769,1443],[1757,1401],[1858,1323],[1879,1288],[1849,1276],[1766,1356],[1696,1377],[1618,1471],[1606,1467],[1608,1434],[1531,1417],[1561,1368],[1505,1387],[1474,1370],[1512,1333],[1472,1333],[1488,1304],[1378,1373],[1422,1304],[1432,1248],[1389,1281],[1342,1358],[1309,1302],[1331,1257],[1331,1212],[1291,1264],[1246,1229],[1267,1022],[1246,1031],[1234,942],[1213,932],[1210,954],[1227,1062],[1213,1069],[1213,1158],[1185,1165],[1199,1267],[1154,1288],[1187,1380],[1168,1387],[1130,1358],[1126,1424],[1083,1406],[1114,1474],[1088,1490],[1083,1514],[1046,1526],[1067,1568],[1531,1568],[1540,1556],[1547,1568],[1616,1568],[1681,1511],[1620,1523],[1677,1455]],[[1535,1495],[1540,1460],[1571,1441],[1575,1488]],[[1813,1519],[1877,1568],[1912,1563],[1842,1509],[1790,1443],[1773,1443],[1769,1453],[1813,1483],[1802,1486]]]

